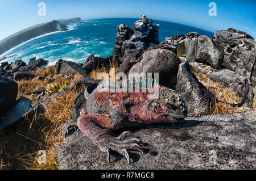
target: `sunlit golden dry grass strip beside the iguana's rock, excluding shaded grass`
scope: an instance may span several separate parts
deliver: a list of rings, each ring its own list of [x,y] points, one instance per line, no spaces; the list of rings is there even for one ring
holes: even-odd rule
[[[69,90],[62,96],[58,96],[49,102],[47,110],[44,116],[49,120],[50,124],[48,130],[44,133],[44,142],[48,148],[46,148],[46,165],[41,165],[34,161],[34,166],[31,169],[59,169],[57,162],[57,154],[55,149],[65,144],[65,138],[63,135],[63,129],[65,124],[71,120],[72,104],[80,90]]]

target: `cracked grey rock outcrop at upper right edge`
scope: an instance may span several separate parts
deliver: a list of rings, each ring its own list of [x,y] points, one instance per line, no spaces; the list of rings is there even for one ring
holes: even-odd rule
[[[245,32],[229,28],[227,31],[216,31],[216,43],[224,49],[222,66],[256,83],[256,42]]]

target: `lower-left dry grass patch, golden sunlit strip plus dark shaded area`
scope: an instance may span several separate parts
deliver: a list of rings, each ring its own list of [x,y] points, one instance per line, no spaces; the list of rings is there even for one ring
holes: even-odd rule
[[[73,100],[80,90],[69,90],[47,106],[44,115],[27,117],[11,132],[0,132],[0,169],[59,169],[55,149],[65,143],[63,129],[71,121]],[[38,151],[46,151],[46,164],[40,164]]]

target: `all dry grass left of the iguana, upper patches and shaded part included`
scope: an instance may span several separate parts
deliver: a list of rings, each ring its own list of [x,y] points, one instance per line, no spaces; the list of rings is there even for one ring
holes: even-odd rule
[[[35,74],[43,75],[52,68],[39,69]],[[61,86],[69,85],[82,75],[55,75],[44,81],[38,78],[20,80],[18,83],[18,98],[26,96],[32,102],[36,90],[46,90],[48,83]],[[59,169],[55,149],[64,144],[63,128],[71,121],[73,100],[80,90],[69,90],[56,97],[47,106],[43,115],[26,117],[15,128],[0,131],[0,169]],[[51,94],[47,95],[50,96]],[[46,150],[47,163],[40,165],[38,151]]]

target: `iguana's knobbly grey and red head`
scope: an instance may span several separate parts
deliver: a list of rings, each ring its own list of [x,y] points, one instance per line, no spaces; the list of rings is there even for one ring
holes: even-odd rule
[[[188,108],[180,95],[167,87],[159,87],[158,98],[146,99],[137,115],[143,123],[159,123],[183,120],[187,113]]]

